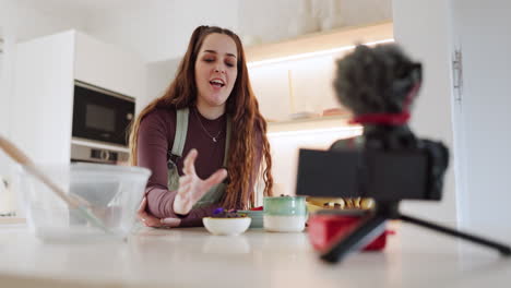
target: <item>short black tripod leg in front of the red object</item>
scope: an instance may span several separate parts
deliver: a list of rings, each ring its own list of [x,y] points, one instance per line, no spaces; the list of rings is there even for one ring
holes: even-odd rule
[[[387,217],[378,215],[364,217],[359,226],[349,235],[338,239],[326,252],[321,254],[321,259],[335,263],[343,260],[349,252],[364,248],[383,232],[385,228],[383,224],[387,219]]]

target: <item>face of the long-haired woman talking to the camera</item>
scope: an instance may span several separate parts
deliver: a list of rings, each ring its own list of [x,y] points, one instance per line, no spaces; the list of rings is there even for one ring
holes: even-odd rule
[[[198,101],[207,107],[222,107],[233,91],[238,75],[236,43],[225,34],[207,35],[195,61]]]

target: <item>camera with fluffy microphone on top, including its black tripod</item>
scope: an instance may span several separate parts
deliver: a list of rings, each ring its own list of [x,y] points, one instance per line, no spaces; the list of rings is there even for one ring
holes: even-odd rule
[[[371,197],[375,208],[345,211],[358,226],[323,251],[335,263],[364,248],[384,230],[388,219],[401,219],[459,237],[511,255],[511,248],[400,213],[403,200],[440,201],[449,149],[441,142],[418,139],[408,125],[421,84],[421,64],[396,45],[357,46],[337,61],[336,96],[361,124],[363,135],[336,141],[330,151],[300,149],[296,194],[321,197]]]

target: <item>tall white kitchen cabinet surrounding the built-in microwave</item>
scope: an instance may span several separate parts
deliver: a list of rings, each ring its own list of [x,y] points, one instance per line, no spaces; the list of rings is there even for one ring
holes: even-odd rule
[[[74,80],[139,97],[144,71],[135,57],[76,31],[17,44],[9,134],[36,161],[70,161]]]

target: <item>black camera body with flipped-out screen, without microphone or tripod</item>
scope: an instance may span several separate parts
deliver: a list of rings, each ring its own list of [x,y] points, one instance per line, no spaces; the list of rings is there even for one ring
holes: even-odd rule
[[[296,193],[372,197],[377,203],[441,200],[448,148],[440,142],[418,140],[409,131],[389,130],[375,128],[360,148],[300,149]]]

